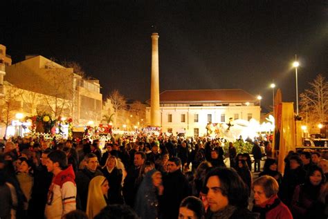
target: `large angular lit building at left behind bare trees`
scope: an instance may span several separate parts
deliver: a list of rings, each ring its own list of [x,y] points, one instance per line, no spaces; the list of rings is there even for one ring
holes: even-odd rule
[[[84,79],[75,74],[73,68],[65,68],[41,55],[27,56],[24,61],[7,66],[6,81],[43,95],[44,101],[35,107],[38,112],[72,117],[75,126],[84,126],[89,121],[100,123],[99,81]]]

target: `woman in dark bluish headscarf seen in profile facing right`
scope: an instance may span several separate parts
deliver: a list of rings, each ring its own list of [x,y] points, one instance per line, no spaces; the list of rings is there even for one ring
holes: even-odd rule
[[[163,194],[162,174],[156,169],[146,173],[136,196],[134,209],[141,219],[161,218],[158,198]]]

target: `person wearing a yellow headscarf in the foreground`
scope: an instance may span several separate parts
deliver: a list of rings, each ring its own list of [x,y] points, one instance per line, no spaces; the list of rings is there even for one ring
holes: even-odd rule
[[[94,218],[107,206],[108,189],[108,181],[102,175],[97,175],[90,181],[88,200],[86,202],[86,214],[89,218]]]

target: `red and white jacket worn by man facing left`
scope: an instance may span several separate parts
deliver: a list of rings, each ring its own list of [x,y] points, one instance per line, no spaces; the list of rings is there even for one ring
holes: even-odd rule
[[[76,209],[76,184],[72,165],[55,175],[48,191],[46,218],[61,219]]]

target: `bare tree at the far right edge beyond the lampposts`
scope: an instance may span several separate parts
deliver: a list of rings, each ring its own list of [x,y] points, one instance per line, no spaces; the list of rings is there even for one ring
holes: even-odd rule
[[[311,127],[318,122],[328,121],[328,82],[322,75],[317,75],[310,88],[300,94],[301,115]]]

